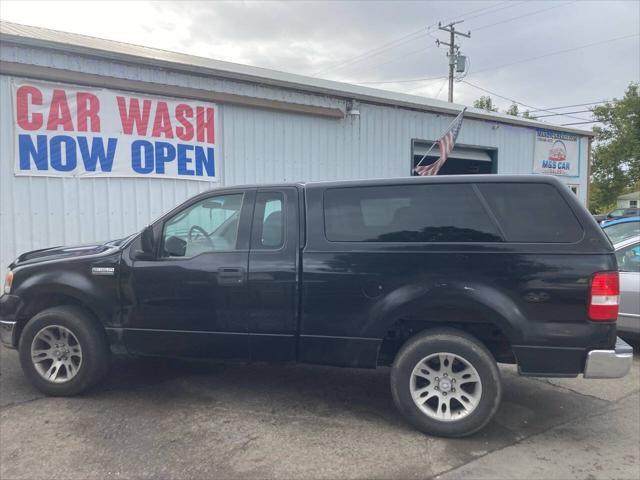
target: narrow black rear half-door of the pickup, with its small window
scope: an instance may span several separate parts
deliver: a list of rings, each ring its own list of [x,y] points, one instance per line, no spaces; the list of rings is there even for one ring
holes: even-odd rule
[[[259,189],[256,195],[247,302],[253,360],[296,358],[298,327],[298,189]]]

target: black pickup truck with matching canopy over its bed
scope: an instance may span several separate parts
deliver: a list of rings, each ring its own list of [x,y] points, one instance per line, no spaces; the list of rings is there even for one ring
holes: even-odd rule
[[[545,176],[228,187],[129,238],[10,265],[2,342],[51,395],[112,353],[391,366],[400,412],[463,436],[498,410],[498,362],[621,377],[612,246]]]

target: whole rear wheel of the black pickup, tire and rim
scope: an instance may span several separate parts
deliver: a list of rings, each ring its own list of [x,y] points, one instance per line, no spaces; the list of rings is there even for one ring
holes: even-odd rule
[[[391,393],[402,415],[419,430],[464,437],[493,418],[502,384],[482,343],[462,331],[437,329],[400,349],[391,369]]]

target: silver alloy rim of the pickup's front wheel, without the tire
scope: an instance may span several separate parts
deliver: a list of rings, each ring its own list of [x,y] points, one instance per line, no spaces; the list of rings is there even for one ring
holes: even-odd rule
[[[65,383],[80,371],[82,347],[71,330],[61,325],[49,325],[33,337],[31,362],[45,380]]]

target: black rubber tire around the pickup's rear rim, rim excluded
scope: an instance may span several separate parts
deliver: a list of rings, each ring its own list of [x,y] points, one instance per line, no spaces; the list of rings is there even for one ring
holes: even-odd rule
[[[429,355],[441,352],[465,359],[475,368],[482,385],[475,409],[462,418],[449,421],[432,418],[423,412],[414,402],[410,387],[414,367]],[[482,429],[496,414],[502,397],[502,381],[493,355],[477,339],[459,330],[433,329],[411,338],[398,352],[391,369],[391,393],[400,413],[422,432],[441,437],[465,437]]]

